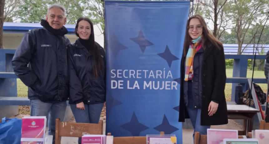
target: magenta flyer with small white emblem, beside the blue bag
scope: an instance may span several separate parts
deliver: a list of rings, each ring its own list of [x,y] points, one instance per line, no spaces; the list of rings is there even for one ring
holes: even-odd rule
[[[45,119],[23,118],[21,138],[44,138]]]

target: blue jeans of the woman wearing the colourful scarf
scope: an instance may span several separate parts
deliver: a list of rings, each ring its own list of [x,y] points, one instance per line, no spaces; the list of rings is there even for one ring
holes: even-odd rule
[[[188,106],[186,109],[194,129],[192,136],[193,141],[195,132],[200,132],[201,135],[207,135],[207,129],[210,128],[210,126],[201,126],[201,109],[195,109],[193,104],[192,82],[188,82]]]

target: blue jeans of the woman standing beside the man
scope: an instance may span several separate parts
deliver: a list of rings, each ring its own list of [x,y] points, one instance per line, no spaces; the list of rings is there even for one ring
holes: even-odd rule
[[[80,110],[77,108],[76,104],[70,104],[70,108],[77,123],[99,123],[103,106],[104,102],[84,104],[85,110]],[[81,144],[81,137],[79,137],[78,142]]]

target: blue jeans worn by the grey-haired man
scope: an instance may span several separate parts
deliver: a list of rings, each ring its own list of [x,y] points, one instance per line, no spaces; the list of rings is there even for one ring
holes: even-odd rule
[[[66,101],[46,103],[39,99],[30,100],[30,115],[47,117],[48,135],[53,135],[53,144],[55,143],[56,118],[60,118],[63,121],[66,106]]]

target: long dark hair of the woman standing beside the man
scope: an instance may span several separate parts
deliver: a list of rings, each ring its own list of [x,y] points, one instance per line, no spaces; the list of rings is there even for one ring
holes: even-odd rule
[[[91,34],[90,34],[90,37],[89,37],[89,46],[90,47],[86,47],[86,48],[93,55],[93,59],[94,59],[94,77],[98,78],[99,72],[104,67],[104,61],[103,61],[103,58],[101,57],[101,54],[99,52],[99,47],[97,46],[96,42],[94,41],[94,25],[93,25],[92,21],[87,17],[80,17],[77,20],[77,24],[76,24],[76,27],[75,27],[75,34],[76,34],[76,36],[79,37],[79,34],[77,33],[77,30],[78,30],[78,27],[79,27],[79,22],[82,21],[82,20],[89,22],[89,24],[91,26]]]

